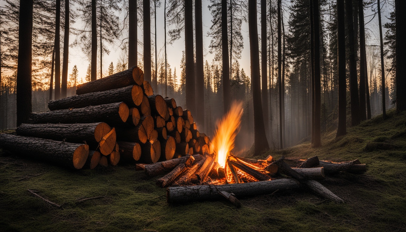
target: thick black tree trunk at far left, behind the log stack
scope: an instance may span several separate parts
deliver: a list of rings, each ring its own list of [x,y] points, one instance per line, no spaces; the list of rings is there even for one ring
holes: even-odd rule
[[[21,0],[19,8],[17,63],[17,126],[28,121],[32,112],[32,0]]]

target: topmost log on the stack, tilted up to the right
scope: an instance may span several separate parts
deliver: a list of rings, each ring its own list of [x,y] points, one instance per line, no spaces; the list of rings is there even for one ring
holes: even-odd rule
[[[91,82],[86,82],[84,84],[78,85],[76,89],[76,94],[81,95],[85,93],[93,93],[106,91],[110,89],[119,89],[129,85],[139,85],[141,86],[144,82],[143,71],[134,66],[123,72],[112,74],[106,76],[105,78],[93,80]]]

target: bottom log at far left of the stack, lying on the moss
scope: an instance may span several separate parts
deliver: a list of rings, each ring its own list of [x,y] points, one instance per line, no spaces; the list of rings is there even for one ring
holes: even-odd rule
[[[0,147],[24,156],[81,169],[89,156],[89,145],[49,139],[0,134]]]

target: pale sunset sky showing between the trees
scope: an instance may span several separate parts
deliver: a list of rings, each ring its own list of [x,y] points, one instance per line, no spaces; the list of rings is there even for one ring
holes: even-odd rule
[[[389,20],[387,17],[389,17],[389,13],[392,10],[392,6],[388,4],[388,0],[384,0],[384,4],[382,7],[382,25],[385,22],[388,22]],[[210,45],[210,40],[211,37],[207,35],[209,32],[209,28],[212,24],[212,15],[208,9],[208,5],[210,4],[209,0],[202,0],[202,11],[203,11],[203,54],[204,54],[204,61],[208,61],[209,63],[212,62],[212,59],[214,58],[214,54],[209,53],[209,45]],[[381,3],[382,4],[382,3]],[[284,13],[284,20],[285,20],[285,25],[288,27],[288,13],[289,13],[289,5],[290,1],[284,1],[283,2],[283,9],[285,11]],[[4,0],[0,1],[0,6],[4,6]],[[74,9],[75,6],[71,5],[71,9]],[[376,8],[376,4],[375,4]],[[260,7],[258,5],[258,11],[260,11]],[[365,22],[369,22],[365,28],[367,30],[367,33],[370,33],[371,38],[367,41],[367,45],[379,45],[379,30],[378,30],[378,17],[377,15],[373,18],[374,13],[371,11],[371,9],[365,10]],[[61,15],[63,17],[63,15]],[[121,21],[123,20],[124,13],[121,14]],[[138,16],[139,17],[139,16]],[[259,25],[259,13],[258,13],[258,33],[261,32],[260,30],[260,25]],[[73,28],[82,28],[83,22],[81,21],[80,18],[76,19],[76,23],[71,25]],[[171,29],[171,26],[167,26],[167,31]],[[242,36],[243,36],[243,43],[244,43],[244,49],[242,50],[241,54],[241,59],[239,60],[241,67],[246,71],[246,74],[248,76],[250,75],[250,48],[249,48],[249,39],[248,39],[248,24],[246,22],[242,22]],[[383,35],[386,31],[385,28],[382,28],[383,30]],[[154,28],[154,17],[151,15],[151,33],[154,33],[155,28]],[[127,37],[127,32],[123,32],[122,38]],[[61,30],[61,37],[63,35],[63,30]],[[260,36],[260,35],[259,35]],[[154,42],[155,36],[152,34],[151,35],[152,42]],[[168,39],[168,36],[167,36]],[[71,35],[69,37],[69,42],[73,43],[75,40],[75,36]],[[142,27],[138,27],[138,40],[143,41],[143,30]],[[63,41],[61,41],[61,46],[63,45]],[[162,1],[162,4],[160,8],[157,9],[157,50],[158,52],[163,48],[164,46],[164,2]],[[180,75],[180,61],[181,61],[181,56],[182,56],[182,51],[185,49],[185,44],[184,44],[184,33],[181,34],[181,39],[175,41],[173,44],[167,44],[167,54],[168,54],[168,62],[171,65],[172,72],[174,68],[176,67],[177,69],[177,76],[179,77]],[[114,66],[117,64],[117,60],[121,54],[121,49],[117,45],[112,45],[109,48],[110,54],[104,54],[103,55],[103,72],[104,76],[107,74],[107,69],[108,65],[110,62],[113,62]],[[162,49],[163,51],[163,49]],[[143,48],[141,46],[138,46],[138,52],[142,53]],[[61,49],[62,53],[62,49]],[[62,54],[61,54],[62,57]],[[159,54],[158,54],[159,57]],[[155,54],[152,54],[152,59],[154,61],[155,59]],[[158,58],[159,59],[159,58]],[[99,62],[99,61],[98,61]],[[84,81],[84,77],[86,76],[86,71],[87,67],[89,65],[89,61],[86,57],[86,55],[82,52],[82,50],[79,47],[75,46],[70,46],[69,47],[69,71],[68,73],[71,74],[72,68],[74,65],[77,65],[78,71],[79,71],[79,79],[82,78]],[[158,66],[159,69],[159,66]]]

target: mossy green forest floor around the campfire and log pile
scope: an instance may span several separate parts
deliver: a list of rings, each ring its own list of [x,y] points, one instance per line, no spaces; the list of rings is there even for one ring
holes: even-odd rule
[[[349,128],[339,140],[326,134],[321,148],[303,143],[255,157],[358,158],[365,174],[321,181],[345,204],[298,190],[240,199],[238,209],[227,201],[171,206],[156,178],[134,166],[71,171],[1,152],[0,231],[405,231],[406,113],[388,117]],[[382,143],[395,146],[380,150]]]

